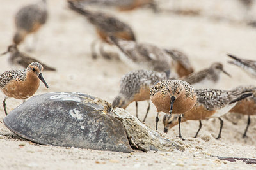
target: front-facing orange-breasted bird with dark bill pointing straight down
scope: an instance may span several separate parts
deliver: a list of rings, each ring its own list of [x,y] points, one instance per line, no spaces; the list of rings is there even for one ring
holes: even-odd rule
[[[151,87],[150,99],[157,108],[156,129],[160,111],[164,113],[180,114],[179,138],[184,140],[180,132],[181,114],[188,112],[196,103],[194,88],[182,80],[162,80]]]

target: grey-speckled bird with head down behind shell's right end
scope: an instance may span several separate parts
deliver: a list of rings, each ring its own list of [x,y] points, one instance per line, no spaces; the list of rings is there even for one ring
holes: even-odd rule
[[[130,103],[136,103],[136,117],[138,117],[138,101],[148,100],[147,113],[143,119],[145,122],[150,108],[150,87],[156,81],[165,80],[170,75],[170,71],[156,72],[149,70],[131,71],[120,80],[120,91],[113,101],[113,107],[126,108]]]

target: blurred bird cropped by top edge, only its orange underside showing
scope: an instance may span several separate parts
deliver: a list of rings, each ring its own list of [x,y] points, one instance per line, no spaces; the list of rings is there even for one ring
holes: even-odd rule
[[[117,8],[119,11],[131,11],[136,8],[148,6],[154,11],[158,11],[154,0],[70,0],[81,3],[82,5],[106,6]]]

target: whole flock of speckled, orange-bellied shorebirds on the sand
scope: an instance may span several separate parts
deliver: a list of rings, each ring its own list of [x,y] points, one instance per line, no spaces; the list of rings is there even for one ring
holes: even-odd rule
[[[115,3],[114,3],[115,2]],[[181,135],[181,122],[198,120],[200,125],[196,132],[198,136],[202,127],[202,120],[218,118],[220,120],[220,132],[216,139],[221,138],[223,120],[221,117],[228,112],[248,115],[248,122],[243,134],[250,125],[250,116],[256,114],[256,87],[253,85],[232,87],[232,90],[212,89],[220,80],[225,71],[223,64],[214,62],[211,66],[201,71],[194,71],[189,61],[189,56],[176,49],[166,49],[150,43],[140,43],[136,40],[136,33],[125,22],[109,13],[89,10],[89,3],[104,6],[115,6],[120,11],[132,10],[140,6],[148,5],[157,10],[156,2],[150,0],[127,1],[83,1],[67,0],[67,8],[77,17],[84,17],[95,27],[98,38],[92,41],[92,59],[99,55],[109,60],[113,57],[104,50],[108,43],[113,46],[118,54],[120,62],[124,62],[133,70],[120,78],[120,91],[113,99],[113,107],[127,108],[136,103],[136,117],[138,117],[138,101],[148,101],[145,108],[145,122],[150,110],[150,100],[156,106],[156,129],[159,122],[159,113],[165,113],[163,117],[164,132],[179,124],[179,138]],[[67,10],[67,9],[66,9]],[[56,68],[47,66],[42,62],[20,52],[18,46],[26,39],[28,34],[34,34],[45,22],[47,22],[47,1],[39,0],[35,4],[24,6],[15,15],[16,31],[13,35],[13,44],[2,55],[9,55],[9,62],[24,69],[5,71],[0,74],[0,88],[4,94],[3,107],[5,114],[6,99],[27,99],[33,96],[39,87],[41,80],[45,87],[42,71],[56,71]],[[84,30],[86,28],[84,27]],[[76,32],[74,32],[75,34]],[[100,40],[99,40],[100,39]],[[99,52],[96,52],[96,44],[100,43]],[[239,67],[256,78],[256,61],[242,59],[231,54],[229,64]]]

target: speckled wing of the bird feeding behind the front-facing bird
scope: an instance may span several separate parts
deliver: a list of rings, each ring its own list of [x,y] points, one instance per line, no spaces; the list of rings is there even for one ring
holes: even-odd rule
[[[239,91],[239,90],[218,90],[218,89],[196,89],[197,101],[200,104],[203,104],[207,110],[216,110],[223,108],[232,101],[239,99],[243,94],[250,92],[248,91]],[[252,93],[250,93],[252,94]]]

